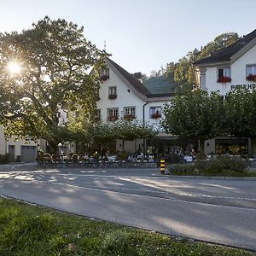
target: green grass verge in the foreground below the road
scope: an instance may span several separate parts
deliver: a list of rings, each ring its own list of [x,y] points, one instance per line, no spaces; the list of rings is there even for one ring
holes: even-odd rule
[[[0,255],[255,255],[0,197]]]

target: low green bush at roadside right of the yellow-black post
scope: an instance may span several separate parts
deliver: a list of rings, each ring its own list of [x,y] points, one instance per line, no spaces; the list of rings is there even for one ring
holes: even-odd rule
[[[228,156],[222,156],[212,160],[195,161],[195,170],[198,170],[199,172],[244,172],[247,166],[247,160]]]

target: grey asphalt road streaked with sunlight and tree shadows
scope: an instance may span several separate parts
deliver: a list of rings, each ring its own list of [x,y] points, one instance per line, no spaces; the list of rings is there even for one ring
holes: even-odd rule
[[[28,171],[26,171],[28,170]],[[0,166],[0,195],[92,218],[256,250],[256,180],[170,178],[157,169]]]

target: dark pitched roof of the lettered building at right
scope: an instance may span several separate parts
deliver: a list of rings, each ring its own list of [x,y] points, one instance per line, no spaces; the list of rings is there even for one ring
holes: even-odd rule
[[[256,29],[253,32],[250,32],[243,38],[237,40],[234,44],[230,44],[230,46],[220,49],[217,52],[213,53],[211,56],[195,61],[194,64],[204,64],[218,61],[230,61],[230,58],[235,55],[240,49],[242,49],[245,45],[247,45],[250,41],[256,38]]]

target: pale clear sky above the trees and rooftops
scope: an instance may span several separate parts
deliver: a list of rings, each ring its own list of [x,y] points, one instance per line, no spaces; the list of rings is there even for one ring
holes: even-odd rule
[[[224,32],[256,29],[256,0],[2,0],[0,32],[48,15],[84,26],[84,36],[129,73],[147,75]],[[255,22],[255,23],[254,23]]]

